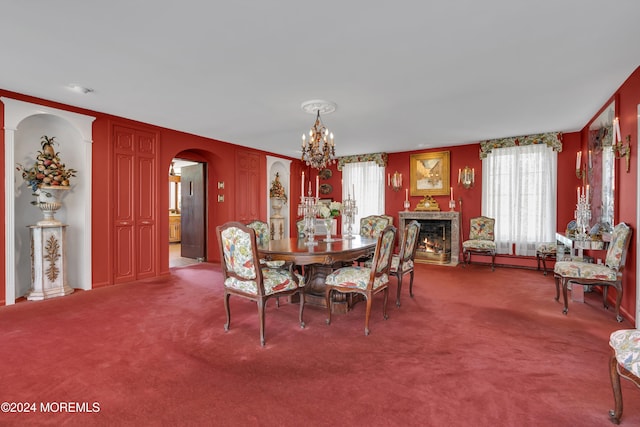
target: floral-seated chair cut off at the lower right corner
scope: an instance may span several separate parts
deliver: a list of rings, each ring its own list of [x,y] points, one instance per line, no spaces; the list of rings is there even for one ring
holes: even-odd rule
[[[622,329],[609,337],[612,354],[609,359],[609,375],[613,388],[615,409],[609,411],[609,419],[620,424],[622,417],[622,388],[620,377],[626,378],[640,387],[640,331]]]

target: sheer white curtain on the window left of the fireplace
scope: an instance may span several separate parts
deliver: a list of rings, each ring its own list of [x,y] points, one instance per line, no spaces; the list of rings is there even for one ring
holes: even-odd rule
[[[376,162],[347,163],[342,168],[342,198],[356,199],[353,233],[360,233],[360,218],[384,214],[384,168]],[[355,192],[355,194],[354,194]],[[342,229],[346,230],[344,215]]]

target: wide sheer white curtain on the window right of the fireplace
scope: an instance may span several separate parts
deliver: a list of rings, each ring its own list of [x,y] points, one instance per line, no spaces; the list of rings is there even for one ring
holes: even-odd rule
[[[558,154],[545,144],[493,150],[482,160],[482,214],[495,218],[496,251],[534,256],[555,241]]]

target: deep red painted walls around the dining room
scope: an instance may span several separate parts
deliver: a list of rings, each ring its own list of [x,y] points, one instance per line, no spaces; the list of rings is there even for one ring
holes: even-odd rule
[[[209,198],[209,211],[207,217],[207,246],[208,253],[207,259],[209,261],[219,261],[218,243],[215,237],[215,226],[222,224],[226,221],[233,220],[236,215],[235,205],[233,203],[234,197],[238,194],[242,194],[243,190],[236,187],[236,170],[235,159],[238,150],[253,151],[261,154],[271,154],[261,152],[257,150],[248,149],[246,147],[237,146],[217,140],[199,137],[196,135],[186,134],[184,132],[178,132],[170,129],[160,128],[156,126],[150,126],[143,123],[111,116],[108,114],[98,113],[94,111],[88,111],[77,107],[68,105],[61,105],[54,102],[37,99],[13,92],[0,90],[0,96],[7,96],[14,99],[19,99],[26,102],[32,102],[36,104],[46,105],[54,108],[65,109],[68,111],[74,111],[81,114],[88,114],[96,117],[93,125],[93,188],[94,195],[110,195],[112,192],[111,182],[112,180],[107,177],[111,177],[112,165],[111,165],[111,129],[115,123],[131,127],[142,127],[145,129],[152,129],[159,135],[159,154],[157,159],[157,173],[158,182],[160,183],[158,194],[158,212],[164,212],[168,206],[168,182],[167,171],[171,160],[178,156],[184,158],[191,158],[198,161],[206,161],[208,163],[208,198]],[[626,135],[631,135],[632,147],[631,150],[631,168],[630,172],[624,171],[624,160],[619,160],[620,165],[618,167],[617,182],[616,182],[616,222],[624,221],[632,228],[636,228],[636,190],[637,190],[637,105],[640,103],[640,68],[636,69],[634,73],[629,77],[627,81],[623,83],[618,91],[612,95],[612,100],[616,100],[617,114],[620,118],[620,128],[623,138]],[[607,105],[605,103],[604,105]],[[603,108],[604,108],[603,105]],[[594,114],[594,118],[599,114]],[[4,117],[4,106],[0,105],[0,120]],[[4,125],[4,123],[2,123]],[[578,150],[585,149],[587,146],[586,129],[588,123],[581,132],[567,133],[563,135],[563,151],[558,155],[558,214],[557,225],[558,230],[564,230],[566,224],[573,219],[573,211],[575,209],[575,188],[579,185],[575,177],[575,153]],[[4,145],[4,133],[0,135],[0,142]],[[468,220],[471,217],[481,214],[481,188],[482,188],[482,161],[479,158],[479,144],[468,144],[455,147],[447,147],[433,150],[423,151],[411,151],[402,153],[389,154],[389,163],[386,172],[393,173],[396,170],[403,175],[404,188],[409,187],[410,179],[410,156],[411,154],[426,153],[433,151],[449,151],[450,152],[450,179],[451,185],[454,187],[454,196],[459,203],[462,201],[462,209],[458,204],[456,210],[462,212],[462,226],[463,236],[468,234],[468,228],[465,224],[468,224]],[[4,149],[2,154],[4,156]],[[300,197],[300,176],[302,171],[305,171],[307,178],[311,178],[315,184],[315,175],[317,171],[310,170],[306,165],[303,165],[298,159],[291,159],[291,179],[290,179],[290,194],[291,200],[289,203],[290,217],[297,218],[297,202]],[[1,163],[4,165],[4,161]],[[458,169],[469,166],[475,168],[475,186],[471,189],[464,189],[457,185],[457,172]],[[266,179],[266,159],[263,157],[261,161],[260,171],[260,189],[258,191],[258,197],[261,206],[261,217],[266,219],[266,191],[262,191],[267,188]],[[324,197],[331,197],[334,200],[342,200],[342,186],[341,179],[342,174],[337,171],[336,165],[330,166],[333,171],[333,175],[329,180],[322,181],[322,183],[329,183],[333,187],[333,191],[330,194],[324,195]],[[101,177],[96,179],[96,177]],[[217,182],[224,181],[224,190],[218,190]],[[2,190],[6,191],[5,188]],[[218,194],[225,196],[225,202],[218,203]],[[625,195],[622,197],[621,195]],[[633,197],[632,197],[633,196]],[[403,201],[405,197],[404,191],[395,192],[391,188],[387,187],[386,190],[387,209],[386,213],[394,217],[394,224],[398,225],[398,212],[403,210]],[[448,196],[435,196],[434,197],[440,204],[441,210],[448,210]],[[421,200],[420,197],[410,197],[411,209],[415,209],[416,204]],[[110,198],[109,197],[94,197],[93,198],[93,230],[92,230],[92,260],[93,260],[93,286],[106,286],[113,283],[112,268],[113,265],[113,250],[112,250],[112,233],[111,227],[105,226],[105,224],[111,224],[110,214]],[[0,216],[4,219],[5,213],[2,212]],[[161,216],[159,219],[159,234],[158,241],[168,241],[168,218]],[[4,236],[4,228],[0,230],[0,233]],[[291,233],[295,234],[295,225],[292,221]],[[634,239],[635,241],[635,239]],[[4,260],[4,248],[0,250],[0,257]],[[498,263],[509,265],[525,265],[533,266],[535,261],[527,258],[516,257],[499,257]],[[6,266],[4,262],[0,263],[0,273],[4,277]],[[624,279],[624,297],[623,297],[623,312],[626,317],[635,318],[635,282],[636,282],[636,247],[632,243],[629,256],[627,258],[627,267],[625,270]],[[157,272],[158,274],[168,274],[168,248],[158,251],[157,257]],[[4,304],[4,286],[0,287],[0,304]],[[612,292],[613,293],[613,292]],[[611,297],[610,297],[611,298]]]

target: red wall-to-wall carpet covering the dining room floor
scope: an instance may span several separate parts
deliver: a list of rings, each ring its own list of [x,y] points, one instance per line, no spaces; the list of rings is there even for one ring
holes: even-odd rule
[[[330,326],[308,306],[300,329],[270,302],[265,348],[254,303],[231,298],[225,333],[218,266],[172,272],[0,308],[0,402],[36,404],[0,425],[610,425],[608,338],[632,325],[600,294],[564,316],[541,272],[418,265],[368,337],[364,304]],[[640,425],[640,390],[623,396]]]

